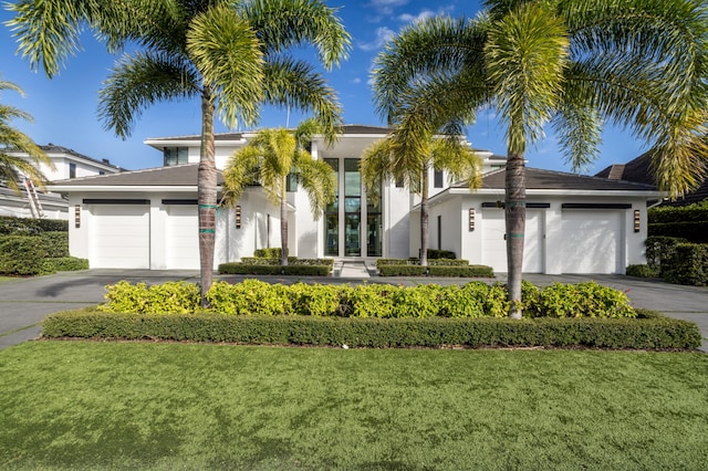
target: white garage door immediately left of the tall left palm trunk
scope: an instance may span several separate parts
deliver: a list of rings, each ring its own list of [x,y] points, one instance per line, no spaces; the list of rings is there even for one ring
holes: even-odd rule
[[[165,244],[167,269],[199,269],[197,205],[167,207],[167,240]]]

